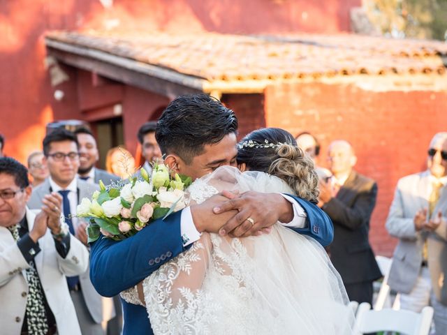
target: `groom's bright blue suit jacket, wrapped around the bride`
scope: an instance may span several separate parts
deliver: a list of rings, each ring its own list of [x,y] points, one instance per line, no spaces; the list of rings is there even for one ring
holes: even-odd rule
[[[307,213],[307,227],[294,229],[327,246],[334,237],[330,218],[316,205],[291,195]],[[100,237],[91,244],[90,278],[100,295],[113,297],[152,274],[185,250],[180,237],[181,211],[156,220],[124,241]],[[122,301],[123,335],[152,334],[146,308]]]

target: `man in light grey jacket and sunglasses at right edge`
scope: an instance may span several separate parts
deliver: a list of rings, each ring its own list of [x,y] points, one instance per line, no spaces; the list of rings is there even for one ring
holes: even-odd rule
[[[388,232],[399,239],[388,285],[400,292],[403,309],[420,312],[431,301],[437,334],[445,335],[447,133],[434,135],[427,153],[427,170],[397,183],[386,221]]]

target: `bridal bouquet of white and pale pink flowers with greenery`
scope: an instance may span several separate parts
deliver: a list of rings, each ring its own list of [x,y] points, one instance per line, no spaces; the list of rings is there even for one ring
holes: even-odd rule
[[[131,237],[157,218],[166,218],[173,211],[186,207],[184,189],[191,184],[190,177],[175,174],[164,164],[155,164],[152,176],[140,169],[141,179],[129,178],[129,182],[105,187],[91,199],[83,198],[77,208],[77,216],[87,218],[89,243],[96,241],[100,232],[110,239],[121,241]]]

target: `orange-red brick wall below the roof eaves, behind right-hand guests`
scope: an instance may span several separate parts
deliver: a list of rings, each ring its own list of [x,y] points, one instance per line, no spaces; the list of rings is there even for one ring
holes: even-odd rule
[[[356,170],[379,186],[370,241],[382,255],[390,255],[395,246],[384,224],[397,180],[425,170],[432,136],[447,129],[446,107],[445,91],[376,92],[322,83],[284,84],[265,91],[267,126],[316,135],[322,145],[321,165],[332,140],[353,144]]]

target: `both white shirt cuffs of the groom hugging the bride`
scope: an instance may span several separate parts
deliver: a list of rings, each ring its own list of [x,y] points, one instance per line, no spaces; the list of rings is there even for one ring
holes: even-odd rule
[[[291,202],[293,207],[293,219],[289,223],[281,223],[288,228],[305,228],[306,226],[306,212],[298,202],[295,201],[292,197],[281,194],[288,202]],[[182,235],[182,243],[183,246],[189,246],[189,244],[194,243],[198,239],[200,239],[201,233],[196,229],[196,225],[194,225],[193,216],[191,214],[191,208],[186,207],[182,211],[182,216],[180,218],[180,234]]]

